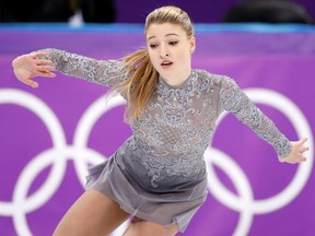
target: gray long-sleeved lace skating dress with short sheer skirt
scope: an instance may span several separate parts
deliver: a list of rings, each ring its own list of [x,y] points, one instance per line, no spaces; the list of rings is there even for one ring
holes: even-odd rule
[[[128,79],[119,60],[45,50],[61,73],[108,87]],[[289,154],[289,140],[233,79],[194,69],[179,88],[159,78],[143,116],[130,123],[132,135],[110,158],[89,169],[86,188],[132,215],[164,226],[177,223],[184,232],[207,197],[203,153],[223,110],[250,127],[279,156]]]

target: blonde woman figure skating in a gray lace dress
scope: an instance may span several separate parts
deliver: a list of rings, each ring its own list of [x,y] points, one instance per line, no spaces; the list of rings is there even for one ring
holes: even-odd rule
[[[306,139],[290,142],[235,81],[191,69],[192,24],[167,5],[145,20],[147,47],[124,60],[95,60],[44,49],[13,60],[16,78],[37,87],[35,76],[55,70],[109,86],[127,101],[132,135],[89,169],[86,191],[66,213],[55,235],[108,235],[133,216],[125,235],[184,232],[207,197],[203,152],[215,120],[231,111],[270,143],[280,162],[304,162]]]

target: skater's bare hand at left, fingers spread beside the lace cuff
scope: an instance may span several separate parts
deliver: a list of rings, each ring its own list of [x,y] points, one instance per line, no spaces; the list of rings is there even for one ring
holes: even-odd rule
[[[33,79],[35,76],[55,78],[56,74],[51,60],[40,59],[47,56],[45,51],[37,51],[27,55],[22,55],[12,61],[14,74],[22,83],[32,87],[38,87],[38,83]]]

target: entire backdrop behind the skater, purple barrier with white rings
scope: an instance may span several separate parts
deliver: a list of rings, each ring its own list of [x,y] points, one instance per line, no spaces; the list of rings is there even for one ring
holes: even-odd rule
[[[205,154],[207,202],[178,236],[314,236],[314,0],[0,0],[0,236],[51,235],[88,166],[131,134],[107,87],[58,73],[34,90],[12,60],[50,47],[119,59],[145,44],[143,21],[164,4],[195,23],[194,68],[235,79],[290,140],[310,145],[306,163],[280,164],[223,114]]]

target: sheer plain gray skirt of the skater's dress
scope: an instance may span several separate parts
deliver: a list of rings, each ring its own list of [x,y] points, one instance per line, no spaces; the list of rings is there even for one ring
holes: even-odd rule
[[[86,188],[92,188],[116,201],[130,215],[165,227],[177,224],[184,232],[195,213],[206,201],[207,178],[184,190],[152,192],[139,185],[129,169],[121,167],[117,156],[89,168]]]

